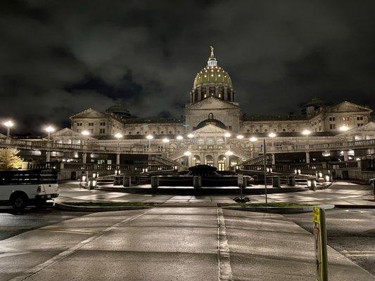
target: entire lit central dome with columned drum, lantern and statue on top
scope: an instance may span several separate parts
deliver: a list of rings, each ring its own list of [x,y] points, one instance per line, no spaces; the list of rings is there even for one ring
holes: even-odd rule
[[[207,66],[196,74],[193,89],[190,92],[191,103],[198,103],[205,98],[215,96],[222,100],[234,102],[234,89],[231,84],[231,77],[219,65],[211,47],[211,55],[208,58]]]

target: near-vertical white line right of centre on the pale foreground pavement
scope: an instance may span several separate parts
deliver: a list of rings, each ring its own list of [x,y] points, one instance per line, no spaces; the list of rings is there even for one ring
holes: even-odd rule
[[[219,281],[233,280],[224,216],[220,208],[217,209],[217,266]]]

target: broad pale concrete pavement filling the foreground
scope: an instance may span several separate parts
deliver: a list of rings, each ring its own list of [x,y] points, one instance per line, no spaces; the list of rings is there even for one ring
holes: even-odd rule
[[[313,237],[289,218],[217,207],[85,214],[0,249],[0,280],[300,281],[315,272]],[[374,280],[331,248],[329,266],[330,281]]]

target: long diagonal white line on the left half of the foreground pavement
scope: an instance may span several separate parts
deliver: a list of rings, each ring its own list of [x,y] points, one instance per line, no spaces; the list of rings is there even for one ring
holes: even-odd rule
[[[44,270],[44,268],[46,268],[48,266],[51,266],[53,263],[57,263],[58,261],[61,261],[62,259],[65,259],[67,256],[70,256],[75,251],[84,247],[84,245],[88,244],[89,242],[92,242],[92,241],[102,237],[103,235],[106,235],[106,233],[108,233],[109,231],[114,230],[116,228],[119,228],[120,226],[123,226],[126,223],[129,223],[130,221],[134,221],[134,219],[139,218],[140,216],[143,216],[144,214],[148,213],[151,210],[152,209],[149,209],[142,214],[139,214],[139,215],[136,215],[136,216],[131,216],[130,218],[125,218],[125,220],[120,221],[119,223],[115,223],[113,226],[110,226],[110,227],[106,228],[105,230],[102,230],[101,232],[96,233],[96,235],[93,235],[93,236],[87,238],[87,240],[84,240],[84,241],[76,244],[75,246],[71,247],[70,249],[68,249],[66,251],[62,251],[60,254],[57,254],[56,256],[53,256],[51,259],[49,259],[47,261],[44,261],[44,263],[40,263],[37,266],[34,266],[34,268],[31,268],[30,270],[25,271],[25,273],[23,273],[22,275],[18,275],[16,277],[13,277],[9,281],[26,280],[27,278],[31,277],[32,275],[38,273],[40,270]]]

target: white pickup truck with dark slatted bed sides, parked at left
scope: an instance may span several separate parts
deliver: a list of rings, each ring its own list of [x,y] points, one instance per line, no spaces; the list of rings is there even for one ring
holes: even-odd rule
[[[14,209],[42,206],[56,197],[58,182],[54,169],[0,171],[0,201]]]

